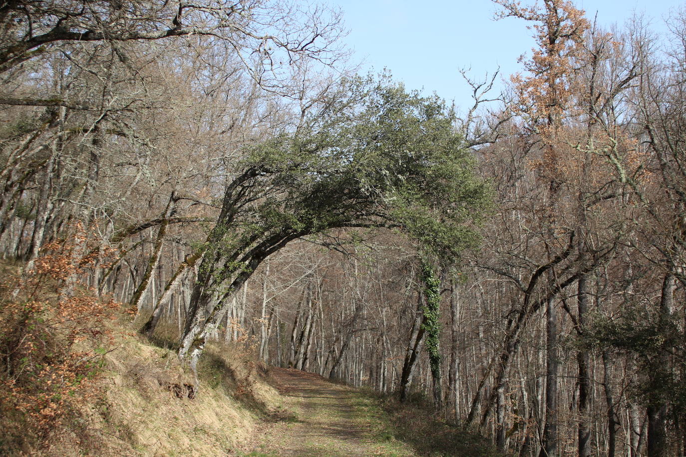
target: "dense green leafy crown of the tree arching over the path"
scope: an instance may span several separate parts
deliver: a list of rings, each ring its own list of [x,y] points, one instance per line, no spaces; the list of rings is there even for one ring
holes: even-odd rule
[[[297,129],[244,147],[208,269],[222,280],[279,243],[340,227],[392,227],[454,260],[477,243],[490,190],[453,121],[437,97],[348,80]]]

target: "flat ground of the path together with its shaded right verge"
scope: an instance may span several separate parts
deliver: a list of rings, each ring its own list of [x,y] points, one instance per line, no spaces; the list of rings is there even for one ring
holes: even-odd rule
[[[498,455],[482,437],[437,421],[416,406],[399,406],[314,373],[270,371],[284,404],[241,456]]]

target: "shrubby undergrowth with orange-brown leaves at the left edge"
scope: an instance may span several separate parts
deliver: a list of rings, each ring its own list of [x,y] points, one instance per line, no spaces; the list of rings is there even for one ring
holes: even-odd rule
[[[33,268],[3,265],[0,284],[0,454],[32,454],[60,443],[53,430],[86,438],[82,410],[102,397],[94,382],[112,346],[106,323],[119,305],[78,284],[106,267],[108,252],[84,255],[78,232],[49,243]]]

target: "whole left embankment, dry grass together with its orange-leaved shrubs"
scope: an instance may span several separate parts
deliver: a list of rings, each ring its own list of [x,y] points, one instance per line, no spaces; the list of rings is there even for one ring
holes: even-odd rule
[[[49,246],[28,273],[0,262],[0,454],[236,454],[281,404],[252,348],[210,345],[198,391],[178,329],[148,341],[121,305],[72,281],[95,261],[74,243]]]

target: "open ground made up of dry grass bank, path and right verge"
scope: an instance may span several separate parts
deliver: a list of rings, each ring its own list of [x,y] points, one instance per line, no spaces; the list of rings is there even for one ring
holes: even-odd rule
[[[4,442],[10,456],[495,456],[481,437],[421,405],[255,362],[250,345],[213,343],[200,388],[163,340],[112,325],[92,395],[39,440]],[[5,425],[27,437],[20,421]],[[16,435],[16,434],[15,434]]]

